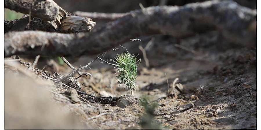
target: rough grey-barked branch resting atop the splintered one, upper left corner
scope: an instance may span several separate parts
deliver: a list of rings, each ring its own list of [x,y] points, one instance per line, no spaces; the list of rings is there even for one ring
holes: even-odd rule
[[[59,6],[52,0],[5,0],[5,8],[29,14],[45,21],[52,21],[59,13]]]

